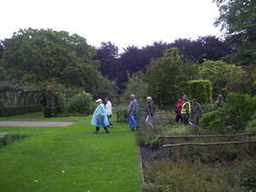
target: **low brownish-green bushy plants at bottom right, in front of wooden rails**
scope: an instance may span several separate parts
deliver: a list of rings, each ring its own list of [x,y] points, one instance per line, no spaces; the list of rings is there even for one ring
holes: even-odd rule
[[[145,173],[143,192],[153,191],[243,191],[237,175],[225,163],[206,165],[190,161],[154,161]]]

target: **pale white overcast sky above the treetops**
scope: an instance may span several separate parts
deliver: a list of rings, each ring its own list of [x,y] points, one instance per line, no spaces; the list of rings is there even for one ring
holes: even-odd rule
[[[218,8],[212,0],[3,0],[0,39],[20,29],[77,33],[99,47],[139,48],[177,38],[220,36],[213,26]]]

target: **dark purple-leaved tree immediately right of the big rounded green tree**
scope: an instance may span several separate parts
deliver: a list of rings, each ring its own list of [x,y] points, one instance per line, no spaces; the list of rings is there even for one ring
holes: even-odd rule
[[[119,48],[112,42],[102,42],[100,48],[96,48],[95,60],[100,60],[98,71],[102,72],[102,76],[113,81],[116,79],[116,67],[118,65]]]

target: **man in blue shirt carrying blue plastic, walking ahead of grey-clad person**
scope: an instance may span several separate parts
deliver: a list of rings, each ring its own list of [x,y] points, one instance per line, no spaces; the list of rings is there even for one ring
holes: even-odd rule
[[[131,102],[129,105],[129,122],[131,131],[134,131],[137,128],[137,99],[135,95],[131,94]]]

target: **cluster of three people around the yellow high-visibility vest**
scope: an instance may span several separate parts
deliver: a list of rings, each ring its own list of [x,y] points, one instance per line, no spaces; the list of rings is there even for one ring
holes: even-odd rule
[[[177,114],[175,119],[176,124],[178,124],[178,121],[181,121],[184,126],[190,124],[197,127],[199,125],[199,116],[202,115],[203,110],[201,104],[199,104],[196,99],[193,99],[193,104],[191,106],[189,97],[183,95],[183,97],[178,98],[175,112]],[[190,115],[194,117],[194,123],[189,121]]]

